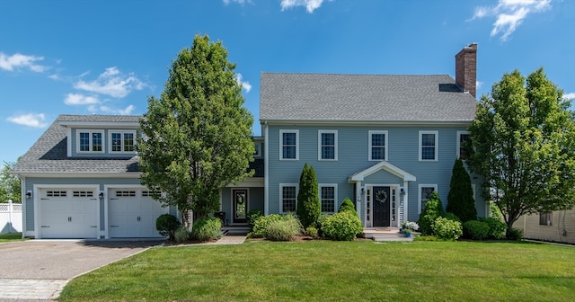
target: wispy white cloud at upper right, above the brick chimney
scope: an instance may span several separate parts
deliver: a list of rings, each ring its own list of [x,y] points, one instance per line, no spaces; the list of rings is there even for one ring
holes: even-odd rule
[[[551,0],[499,0],[496,6],[476,7],[475,13],[469,21],[495,17],[491,37],[500,35],[500,39],[505,41],[517,30],[527,15],[544,12],[549,8],[551,8]]]

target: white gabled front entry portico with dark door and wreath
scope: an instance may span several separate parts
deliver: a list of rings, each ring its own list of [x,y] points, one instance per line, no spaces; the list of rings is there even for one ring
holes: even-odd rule
[[[400,227],[407,220],[409,182],[415,176],[386,161],[349,176],[364,227]],[[382,184],[385,183],[385,184]]]

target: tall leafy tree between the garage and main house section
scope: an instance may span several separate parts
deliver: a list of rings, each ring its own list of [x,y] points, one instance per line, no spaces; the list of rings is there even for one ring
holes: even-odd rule
[[[219,192],[249,177],[252,114],[220,41],[196,36],[173,61],[164,92],[150,97],[137,151],[141,182],[155,199],[204,217],[219,209]]]

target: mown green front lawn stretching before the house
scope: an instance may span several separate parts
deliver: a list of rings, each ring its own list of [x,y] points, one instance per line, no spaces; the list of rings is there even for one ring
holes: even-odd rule
[[[156,247],[72,280],[59,300],[572,301],[575,248],[313,241]]]

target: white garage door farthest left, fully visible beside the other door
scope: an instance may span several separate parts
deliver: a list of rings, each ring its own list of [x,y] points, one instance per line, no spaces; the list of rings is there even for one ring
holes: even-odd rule
[[[93,189],[40,190],[41,238],[97,238],[98,198]]]

